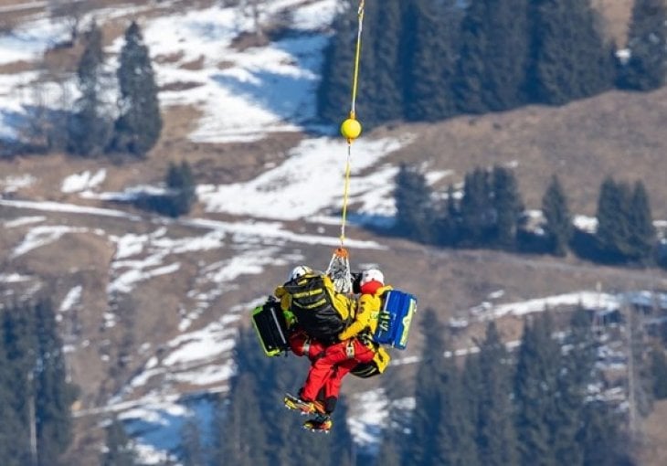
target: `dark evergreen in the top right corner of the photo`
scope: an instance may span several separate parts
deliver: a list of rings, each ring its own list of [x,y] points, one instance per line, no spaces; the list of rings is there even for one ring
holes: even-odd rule
[[[620,71],[620,87],[661,88],[667,74],[667,7],[662,0],[634,2],[628,37],[630,60]]]

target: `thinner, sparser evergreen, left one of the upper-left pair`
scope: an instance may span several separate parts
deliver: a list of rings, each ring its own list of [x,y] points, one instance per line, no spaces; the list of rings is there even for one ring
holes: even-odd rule
[[[101,97],[103,65],[102,33],[93,22],[85,35],[85,48],[77,69],[81,97],[68,124],[69,151],[85,157],[102,154],[111,141],[112,122],[105,114]]]

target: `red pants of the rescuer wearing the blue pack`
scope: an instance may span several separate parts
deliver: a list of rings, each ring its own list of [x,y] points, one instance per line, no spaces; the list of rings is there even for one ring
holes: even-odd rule
[[[306,401],[317,399],[321,390],[329,404],[338,398],[343,377],[357,364],[370,363],[375,352],[356,338],[327,346],[324,354],[311,365],[301,397]],[[333,409],[332,409],[333,410]]]

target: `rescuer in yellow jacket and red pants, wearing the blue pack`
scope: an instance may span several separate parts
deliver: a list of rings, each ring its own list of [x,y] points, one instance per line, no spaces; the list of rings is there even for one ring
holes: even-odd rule
[[[385,285],[385,277],[379,269],[364,270],[359,282],[361,296],[355,312],[355,319],[338,334],[339,343],[325,347],[323,355],[311,365],[305,384],[300,392],[302,410],[315,413],[315,400],[320,391],[325,389],[325,413],[334,411],[343,377],[355,366],[367,364],[376,356],[378,345],[371,339],[376,331],[377,320],[382,306],[382,294],[392,287]],[[290,408],[290,407],[288,407]],[[328,428],[331,428],[331,420]],[[313,421],[308,421],[313,422]],[[316,423],[317,421],[315,421]],[[306,426],[309,429],[318,426]]]

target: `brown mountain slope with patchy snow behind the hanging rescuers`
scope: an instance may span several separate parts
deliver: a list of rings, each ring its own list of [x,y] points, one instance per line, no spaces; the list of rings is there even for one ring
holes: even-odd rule
[[[107,24],[107,51],[112,61],[122,24],[139,18],[165,115],[163,139],[148,159],[112,164],[49,154],[0,161],[0,286],[9,298],[44,292],[59,308],[70,374],[81,387],[73,464],[94,461],[101,419],[111,412],[129,423],[152,415],[183,419],[195,395],[224,392],[236,328],[248,324],[249,310],[294,263],[323,269],[338,245],[346,148],[322,135],[332,128],[312,122],[318,54],[335,2],[270,2],[264,20],[293,9],[297,32],[249,48],[242,33],[251,24],[237,10],[137,4],[143,7],[115,10],[122,15]],[[312,17],[318,21],[306,21]],[[38,30],[41,23],[33,21],[39,20],[29,21]],[[163,40],[164,30],[174,32],[171,40]],[[21,69],[15,62],[3,69],[12,66]],[[4,72],[3,110],[18,111],[30,99],[18,89],[31,77]],[[557,173],[573,210],[587,215],[595,212],[604,175],[642,179],[656,217],[665,218],[666,106],[665,90],[609,92],[561,108],[365,133],[352,148],[351,217],[390,221],[392,176],[397,164],[408,162],[422,165],[437,185],[459,183],[475,166],[512,164],[529,208],[539,207],[545,180]],[[201,196],[187,218],[154,217],[110,200],[159,185],[167,164],[182,159],[193,164]],[[459,349],[481,334],[480,307],[583,296],[598,283],[613,292],[667,287],[662,270],[433,249],[356,225],[347,237],[355,268],[380,264],[392,284],[418,295],[420,308],[438,310],[446,322],[469,321],[454,342]],[[503,316],[500,325],[508,340],[520,334],[517,315]],[[392,387],[410,379],[411,363],[427,344],[418,322],[414,329],[408,351],[394,352],[385,376]],[[372,387],[376,381],[351,379],[344,391],[364,394]],[[409,385],[403,387],[394,395],[409,397]],[[363,429],[359,418],[353,420]],[[176,424],[170,428],[177,434]]]

